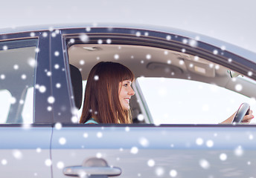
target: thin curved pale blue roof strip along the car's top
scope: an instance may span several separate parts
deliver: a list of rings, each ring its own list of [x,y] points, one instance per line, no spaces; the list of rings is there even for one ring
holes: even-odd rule
[[[26,27],[12,27],[0,29],[1,34],[7,33],[22,33],[22,32],[32,32],[32,31],[40,31],[40,30],[63,30],[63,29],[75,29],[75,28],[86,28],[86,27],[114,27],[114,28],[131,28],[135,30],[152,30],[158,31],[161,33],[173,33],[178,36],[185,36],[190,39],[196,39],[200,42],[205,42],[207,44],[214,45],[216,47],[220,47],[222,50],[228,50],[231,53],[236,54],[237,56],[242,56],[243,58],[249,59],[252,62],[256,62],[256,53],[246,50],[243,47],[238,47],[234,44],[230,44],[228,42],[223,42],[219,39],[214,39],[210,36],[205,36],[199,33],[193,33],[188,30],[181,30],[173,27],[161,27],[161,26],[153,26],[153,25],[141,25],[141,24],[44,24],[44,25],[36,25],[36,26],[26,26]]]

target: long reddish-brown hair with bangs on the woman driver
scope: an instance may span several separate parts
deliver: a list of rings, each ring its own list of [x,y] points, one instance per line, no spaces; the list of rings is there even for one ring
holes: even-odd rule
[[[130,111],[119,101],[119,82],[134,80],[128,67],[117,62],[99,62],[89,73],[80,123],[93,118],[98,123],[132,123]]]

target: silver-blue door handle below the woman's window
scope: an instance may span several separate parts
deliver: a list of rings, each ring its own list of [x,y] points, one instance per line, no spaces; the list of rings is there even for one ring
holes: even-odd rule
[[[110,167],[104,159],[91,158],[86,160],[83,165],[69,166],[63,169],[63,174],[71,177],[114,177],[122,173],[121,168]]]

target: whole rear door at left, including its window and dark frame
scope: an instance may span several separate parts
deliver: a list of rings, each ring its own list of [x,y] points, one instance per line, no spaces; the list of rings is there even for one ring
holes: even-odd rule
[[[51,177],[47,34],[0,34],[0,177]]]

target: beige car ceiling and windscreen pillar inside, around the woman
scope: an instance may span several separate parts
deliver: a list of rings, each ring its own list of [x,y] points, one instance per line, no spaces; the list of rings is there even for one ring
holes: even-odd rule
[[[255,81],[185,51],[126,44],[73,44],[68,48],[68,60],[70,65],[80,70],[83,81],[97,62],[110,61],[129,67],[135,79],[143,76],[193,80],[255,98]],[[237,90],[237,84],[242,85],[243,90]],[[139,86],[133,82],[132,87],[135,90],[135,96],[130,101],[133,122],[153,123]],[[142,121],[138,119],[140,114],[144,116]]]

